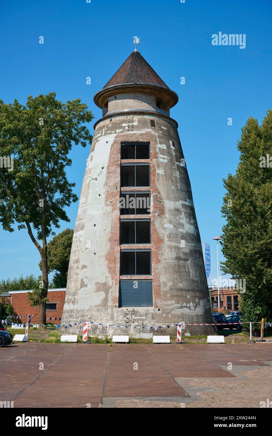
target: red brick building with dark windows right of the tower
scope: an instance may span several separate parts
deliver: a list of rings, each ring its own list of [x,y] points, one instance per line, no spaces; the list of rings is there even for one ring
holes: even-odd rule
[[[209,286],[211,291],[212,311],[218,312],[218,290]],[[228,313],[231,310],[239,310],[239,296],[235,286],[219,288],[220,312]]]

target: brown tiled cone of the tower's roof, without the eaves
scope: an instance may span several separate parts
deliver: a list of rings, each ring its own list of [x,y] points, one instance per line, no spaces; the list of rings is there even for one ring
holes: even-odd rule
[[[103,89],[108,86],[121,85],[123,83],[150,83],[169,89],[139,51],[133,51],[130,54]]]

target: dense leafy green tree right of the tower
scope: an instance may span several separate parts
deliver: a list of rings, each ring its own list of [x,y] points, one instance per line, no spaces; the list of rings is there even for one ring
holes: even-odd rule
[[[250,117],[238,141],[240,161],[236,174],[224,180],[227,193],[222,213],[221,263],[233,279],[245,279],[240,291],[244,321],[272,315],[272,110],[258,125]],[[268,155],[268,156],[267,156]],[[270,161],[271,157],[271,161]],[[265,162],[265,164],[264,164]],[[268,162],[268,166],[267,166]],[[257,327],[258,326],[258,327]],[[259,329],[260,325],[256,324]]]

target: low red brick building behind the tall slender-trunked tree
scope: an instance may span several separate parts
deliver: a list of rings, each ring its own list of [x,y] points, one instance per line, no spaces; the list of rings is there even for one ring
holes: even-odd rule
[[[48,302],[46,303],[46,317],[52,318],[51,322],[54,324],[60,324],[59,318],[62,318],[63,305],[65,300],[65,291],[66,288],[59,289],[48,289]],[[28,292],[32,292],[31,290],[25,291],[9,291],[9,296],[5,293],[5,299],[10,300],[10,303],[14,307],[15,312],[18,316],[31,314],[32,319],[31,323],[38,324],[39,323],[39,307],[31,307],[28,302]],[[57,320],[55,320],[57,318]],[[25,321],[26,318],[22,318],[22,322]],[[47,320],[47,322],[50,320]]]

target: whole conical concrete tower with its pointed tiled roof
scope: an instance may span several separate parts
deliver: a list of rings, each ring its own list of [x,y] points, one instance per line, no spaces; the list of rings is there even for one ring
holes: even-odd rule
[[[189,176],[170,118],[178,96],[135,50],[94,102],[103,117],[83,179],[62,324],[118,324],[127,328],[94,324],[90,334],[148,337],[154,330],[146,326],[170,325],[176,334],[171,324],[212,323]]]

